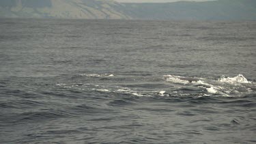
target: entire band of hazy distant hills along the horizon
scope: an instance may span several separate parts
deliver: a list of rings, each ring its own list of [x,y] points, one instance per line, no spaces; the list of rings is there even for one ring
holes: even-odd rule
[[[0,0],[0,17],[256,20],[256,0],[117,3],[111,0]]]

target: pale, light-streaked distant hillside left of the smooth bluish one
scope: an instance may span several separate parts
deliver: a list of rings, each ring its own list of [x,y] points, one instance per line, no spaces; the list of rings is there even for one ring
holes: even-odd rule
[[[0,0],[0,17],[130,19],[123,7],[105,0]]]

